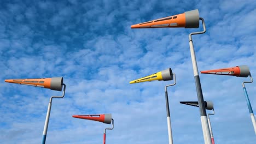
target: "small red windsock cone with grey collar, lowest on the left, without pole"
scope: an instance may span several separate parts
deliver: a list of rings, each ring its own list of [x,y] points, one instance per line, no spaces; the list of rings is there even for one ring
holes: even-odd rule
[[[112,121],[111,113],[101,114],[101,115],[74,115],[72,117],[88,119],[91,121],[98,121],[98,122],[107,123],[107,124],[111,124],[111,121]]]

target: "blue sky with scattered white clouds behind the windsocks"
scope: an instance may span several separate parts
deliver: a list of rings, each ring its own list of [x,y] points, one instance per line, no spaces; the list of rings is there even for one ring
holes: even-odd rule
[[[0,5],[0,143],[40,143],[51,95],[61,92],[5,79],[62,76],[63,99],[53,99],[46,143],[102,143],[110,127],[72,115],[112,113],[107,143],[168,143],[164,87],[129,81],[167,68],[174,143],[203,143],[185,28],[131,29],[136,23],[199,9],[207,32],[193,36],[200,70],[248,65],[256,75],[256,1],[2,1]],[[254,143],[243,95],[249,78],[201,75],[212,100],[216,143]],[[255,82],[246,84],[256,111]],[[209,111],[207,111],[209,112]]]

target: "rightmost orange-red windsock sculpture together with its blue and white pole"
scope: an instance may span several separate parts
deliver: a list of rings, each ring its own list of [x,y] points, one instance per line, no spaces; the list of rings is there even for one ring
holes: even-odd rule
[[[251,116],[251,119],[252,119],[254,132],[255,132],[255,135],[256,135],[255,117],[254,117],[252,106],[251,106],[251,103],[250,103],[250,100],[249,100],[249,97],[248,97],[248,94],[247,94],[247,91],[246,91],[246,87],[245,87],[245,83],[252,83],[253,82],[252,75],[250,73],[249,67],[247,65],[240,65],[240,66],[231,67],[231,68],[204,70],[204,71],[201,71],[201,74],[230,75],[230,76],[236,76],[236,77],[248,77],[248,76],[250,76],[251,81],[244,81],[242,83],[242,86],[243,86],[243,92],[245,93],[249,113],[250,113],[250,116]]]

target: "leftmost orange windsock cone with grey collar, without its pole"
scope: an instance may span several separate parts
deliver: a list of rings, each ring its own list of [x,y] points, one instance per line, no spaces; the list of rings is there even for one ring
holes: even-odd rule
[[[17,83],[20,85],[28,85],[34,87],[50,88],[51,90],[61,91],[63,84],[63,77],[52,77],[42,79],[10,79],[5,82]]]

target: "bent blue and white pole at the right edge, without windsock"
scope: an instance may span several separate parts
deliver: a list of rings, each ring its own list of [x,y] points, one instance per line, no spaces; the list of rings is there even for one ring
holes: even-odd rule
[[[252,119],[252,123],[253,123],[254,132],[255,132],[255,135],[256,135],[256,122],[255,122],[255,117],[254,117],[253,110],[252,110],[252,106],[251,106],[251,103],[250,103],[250,100],[249,100],[249,97],[248,97],[248,94],[247,94],[247,91],[246,91],[246,87],[245,87],[245,83],[252,83],[252,82],[253,82],[251,73],[249,74],[249,76],[250,76],[250,78],[251,78],[251,81],[244,81],[244,82],[242,83],[242,85],[243,85],[243,92],[245,92],[245,97],[246,97],[246,102],[247,102],[247,106],[248,106],[248,109],[249,109],[249,113],[250,113],[250,115],[251,115],[251,119]]]

